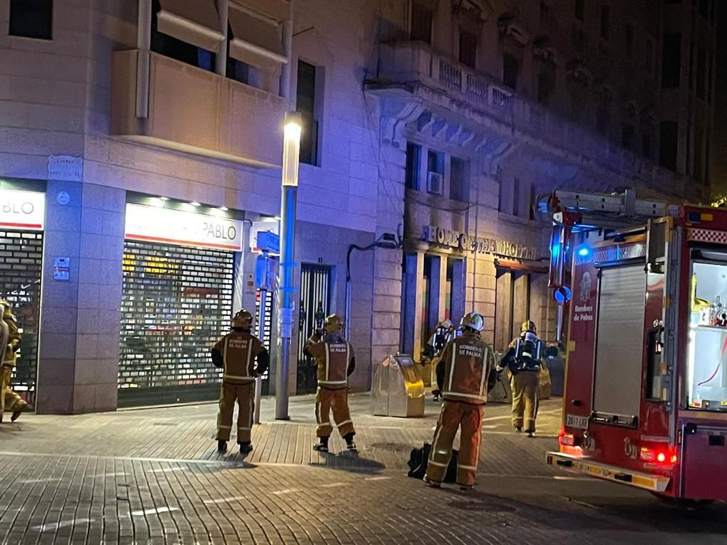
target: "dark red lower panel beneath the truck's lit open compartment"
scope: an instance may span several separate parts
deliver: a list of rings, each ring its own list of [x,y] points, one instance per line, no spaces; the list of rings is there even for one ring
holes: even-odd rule
[[[687,424],[682,442],[682,496],[727,500],[727,427]]]

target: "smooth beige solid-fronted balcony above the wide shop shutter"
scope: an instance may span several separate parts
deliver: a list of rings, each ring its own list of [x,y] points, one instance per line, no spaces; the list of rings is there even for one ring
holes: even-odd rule
[[[113,55],[111,134],[259,168],[281,164],[284,100],[150,54],[148,115],[137,117],[140,52]]]

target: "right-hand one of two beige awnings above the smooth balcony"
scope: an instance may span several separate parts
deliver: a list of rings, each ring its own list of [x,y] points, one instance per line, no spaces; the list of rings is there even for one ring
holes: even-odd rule
[[[288,62],[279,23],[262,15],[252,15],[234,4],[230,4],[229,13],[230,57],[263,71],[278,70],[282,63]]]

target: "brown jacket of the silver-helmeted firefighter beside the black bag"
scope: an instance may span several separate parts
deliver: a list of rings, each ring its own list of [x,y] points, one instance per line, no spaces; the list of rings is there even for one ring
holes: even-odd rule
[[[484,405],[491,381],[492,349],[475,333],[465,331],[452,339],[437,366],[437,382],[446,401]],[[493,374],[494,375],[494,374]]]

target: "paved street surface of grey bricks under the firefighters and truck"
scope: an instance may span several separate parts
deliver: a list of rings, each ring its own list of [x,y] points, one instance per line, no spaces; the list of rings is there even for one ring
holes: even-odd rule
[[[422,419],[370,416],[352,396],[358,456],[318,455],[313,397],[292,421],[263,424],[245,459],[215,451],[216,405],[87,416],[24,414],[0,424],[1,544],[682,544],[727,542],[727,506],[697,510],[545,465],[560,400],[542,403],[539,435],[510,429],[488,405],[475,491],[406,477]]]

